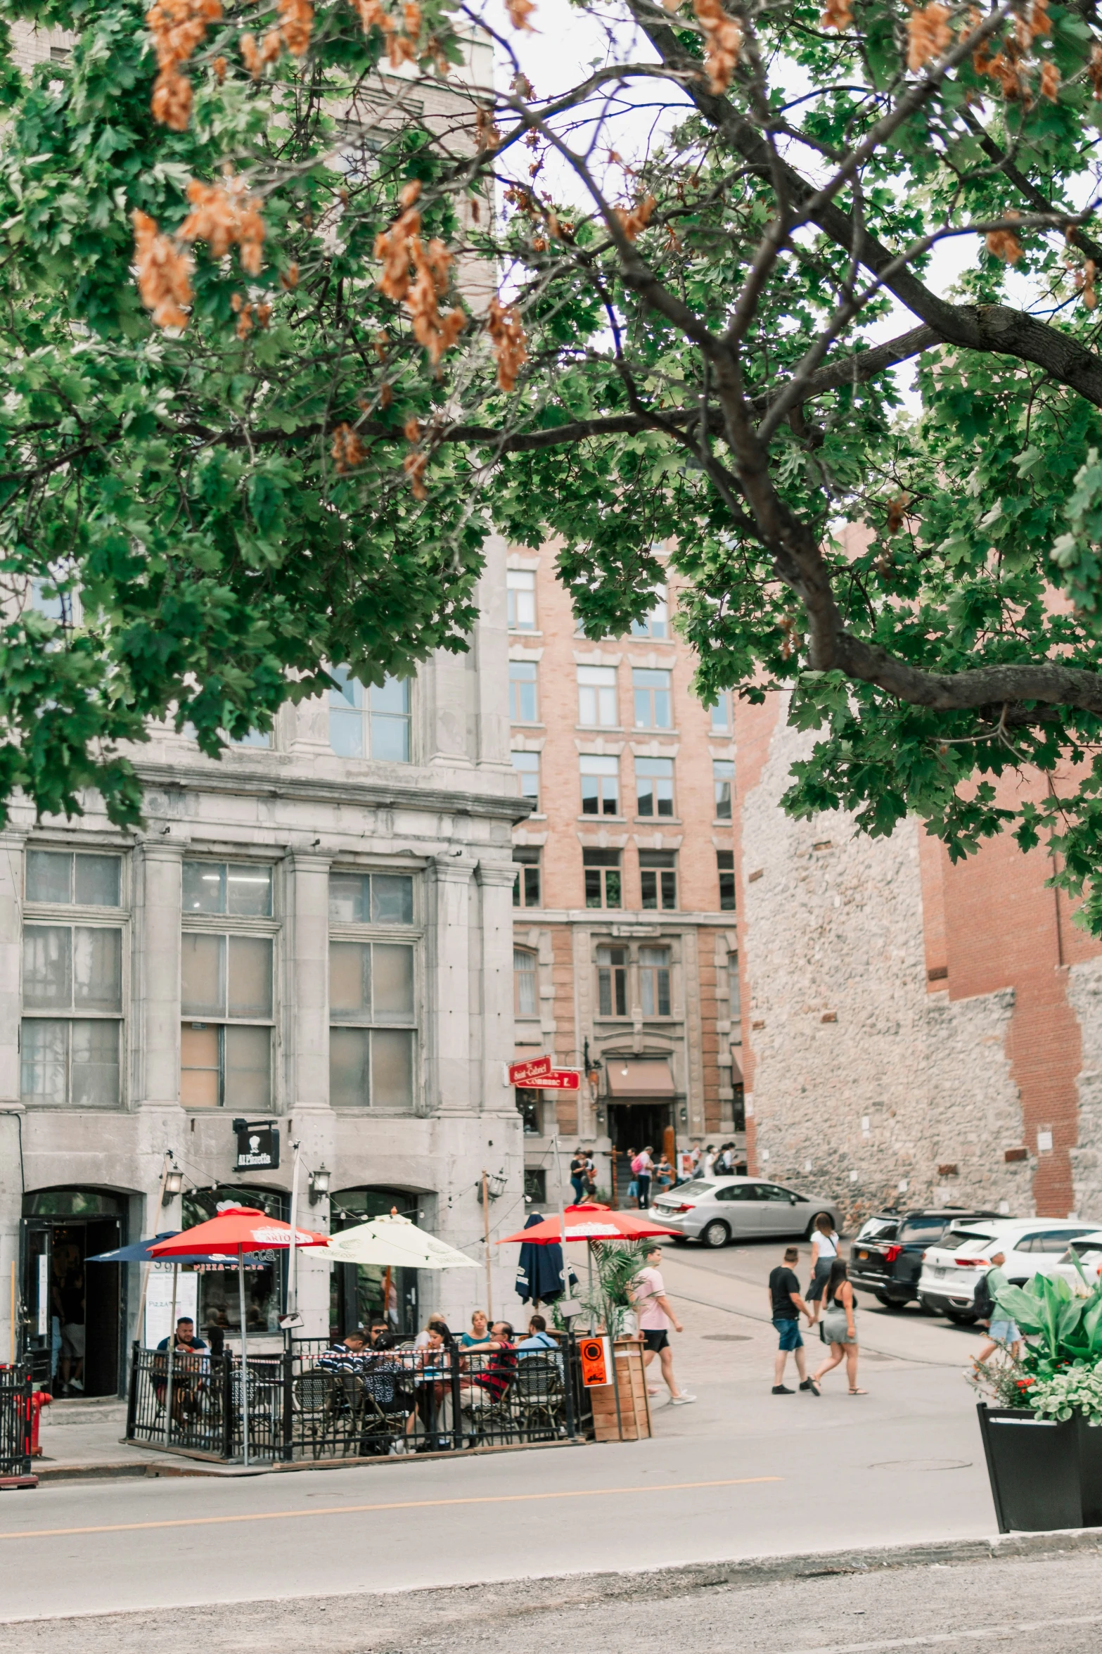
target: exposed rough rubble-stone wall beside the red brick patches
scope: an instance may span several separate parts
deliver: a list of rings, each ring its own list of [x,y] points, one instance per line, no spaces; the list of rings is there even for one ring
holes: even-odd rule
[[[897,1202],[1028,1214],[1031,1166],[1003,1159],[1023,1130],[1013,989],[929,992],[920,824],[867,839],[844,812],[791,820],[780,797],[811,744],[781,718],[742,799],[758,1174],[834,1199],[848,1224]]]

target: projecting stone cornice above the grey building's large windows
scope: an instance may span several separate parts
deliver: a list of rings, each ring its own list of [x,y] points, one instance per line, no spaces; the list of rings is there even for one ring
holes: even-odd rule
[[[325,781],[319,776],[273,776],[266,769],[213,772],[198,764],[135,764],[142,784],[173,792],[236,792],[245,797],[292,799],[304,804],[357,804],[362,809],[438,810],[446,815],[489,815],[522,822],[529,799],[449,787],[401,786],[382,781]]]

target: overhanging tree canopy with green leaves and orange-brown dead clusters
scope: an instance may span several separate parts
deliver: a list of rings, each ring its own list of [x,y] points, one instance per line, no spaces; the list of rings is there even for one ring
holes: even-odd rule
[[[38,10],[76,45],[8,83],[0,529],[12,604],[50,571],[84,625],[45,652],[8,622],[0,786],[96,781],[134,819],[111,743],[145,718],[216,751],[325,660],[464,647],[496,526],[558,536],[591,635],[649,607],[667,543],[701,693],[791,685],[818,729],[790,809],[917,810],[955,855],[1054,834],[1090,885],[1090,0],[610,0],[550,98],[547,20],[507,13]],[[1023,767],[1047,799],[1011,807]]]

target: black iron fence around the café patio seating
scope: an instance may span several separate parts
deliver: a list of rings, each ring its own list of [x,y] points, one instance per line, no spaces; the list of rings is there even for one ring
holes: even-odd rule
[[[591,1416],[577,1348],[177,1355],[134,1346],[127,1441],[235,1460],[360,1459],[582,1434]]]

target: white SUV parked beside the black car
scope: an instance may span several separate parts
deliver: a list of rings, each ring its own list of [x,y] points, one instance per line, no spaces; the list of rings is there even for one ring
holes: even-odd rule
[[[1003,1272],[1014,1287],[1033,1275],[1049,1275],[1076,1236],[1099,1229],[1074,1217],[985,1217],[953,1227],[927,1247],[919,1279],[919,1302],[950,1322],[976,1320],[976,1287],[991,1267],[991,1254],[1005,1252]]]

